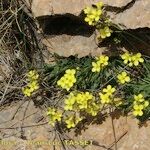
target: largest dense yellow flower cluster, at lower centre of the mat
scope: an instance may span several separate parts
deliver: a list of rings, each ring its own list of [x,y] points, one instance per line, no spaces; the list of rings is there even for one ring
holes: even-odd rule
[[[95,103],[95,97],[89,92],[70,93],[65,99],[64,109],[73,111],[85,111],[92,116],[96,116],[100,105]]]

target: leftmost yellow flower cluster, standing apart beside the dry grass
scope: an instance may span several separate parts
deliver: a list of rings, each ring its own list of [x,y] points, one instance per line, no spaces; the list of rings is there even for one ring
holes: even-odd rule
[[[27,73],[28,84],[22,88],[22,92],[25,96],[30,97],[34,91],[39,89],[38,78],[39,74],[35,70],[31,70]]]

